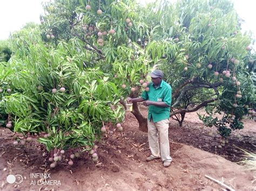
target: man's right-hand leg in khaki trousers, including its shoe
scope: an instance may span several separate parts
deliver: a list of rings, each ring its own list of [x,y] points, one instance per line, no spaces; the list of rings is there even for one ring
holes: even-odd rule
[[[170,144],[169,144],[169,119],[162,120],[156,123],[159,136],[160,136],[160,153],[161,159],[165,164],[170,166],[172,158],[170,156]],[[166,166],[166,167],[167,167]]]

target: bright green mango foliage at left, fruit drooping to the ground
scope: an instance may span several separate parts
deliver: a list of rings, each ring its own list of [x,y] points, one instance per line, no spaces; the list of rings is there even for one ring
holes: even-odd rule
[[[15,132],[14,145],[38,134],[38,142],[51,151],[51,167],[64,156],[72,165],[83,151],[97,160],[95,142],[106,133],[105,125],[112,122],[122,130],[124,111],[113,77],[98,67],[84,69],[87,55],[77,51],[83,49],[77,39],[45,44],[39,27],[27,26],[11,41],[14,55],[0,65],[0,107],[6,128]]]

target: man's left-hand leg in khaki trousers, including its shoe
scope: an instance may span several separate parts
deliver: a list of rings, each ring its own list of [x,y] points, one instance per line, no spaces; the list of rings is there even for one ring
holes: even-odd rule
[[[160,150],[159,150],[159,143],[158,143],[158,132],[157,127],[152,121],[147,120],[147,137],[149,139],[149,146],[151,151],[151,158],[160,158]],[[147,159],[147,161],[150,161]]]

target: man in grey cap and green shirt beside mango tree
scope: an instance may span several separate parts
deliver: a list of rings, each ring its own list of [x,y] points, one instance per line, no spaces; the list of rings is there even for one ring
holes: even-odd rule
[[[164,73],[161,70],[156,69],[149,75],[152,81],[149,84],[149,91],[144,91],[142,97],[139,98],[129,97],[127,101],[130,103],[143,102],[145,106],[149,106],[147,129],[151,155],[146,158],[146,161],[161,157],[164,167],[169,167],[172,161],[168,137],[172,88],[162,80]]]

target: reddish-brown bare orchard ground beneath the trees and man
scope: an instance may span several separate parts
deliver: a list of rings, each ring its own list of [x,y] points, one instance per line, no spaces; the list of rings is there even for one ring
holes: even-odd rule
[[[146,108],[140,106],[146,115]],[[203,112],[203,111],[201,111]],[[35,138],[25,146],[15,147],[13,133],[1,128],[0,172],[2,190],[220,190],[217,183],[205,178],[209,175],[236,190],[256,188],[255,174],[236,162],[242,160],[239,148],[255,152],[255,122],[246,119],[245,128],[232,132],[228,144],[218,148],[220,136],[215,128],[207,128],[198,119],[196,112],[186,114],[183,127],[170,119],[170,148],[173,158],[169,168],[160,160],[146,162],[150,155],[147,134],[138,130],[136,118],[127,113],[122,123],[123,132],[114,130],[106,134],[97,149],[99,161],[93,163],[91,156],[84,154],[74,160],[49,169],[44,146]],[[107,131],[112,130],[109,126]],[[237,136],[239,135],[239,136]],[[237,147],[235,147],[235,146]],[[217,146],[217,147],[215,147]],[[43,154],[43,156],[42,156]],[[57,186],[38,183],[40,178],[31,178],[31,173],[50,173],[50,179],[61,183]],[[22,183],[6,182],[8,174],[20,174]],[[16,180],[18,181],[18,180]],[[31,185],[31,181],[36,185]]]

